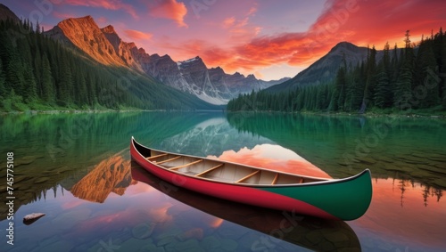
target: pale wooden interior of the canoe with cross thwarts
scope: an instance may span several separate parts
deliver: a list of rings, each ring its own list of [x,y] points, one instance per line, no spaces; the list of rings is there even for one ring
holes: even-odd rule
[[[146,159],[158,166],[185,175],[192,175],[220,182],[278,185],[326,181],[325,179],[284,174],[255,167],[245,167],[219,160],[181,156],[159,150],[150,150],[150,154],[146,154],[148,154],[145,156]]]

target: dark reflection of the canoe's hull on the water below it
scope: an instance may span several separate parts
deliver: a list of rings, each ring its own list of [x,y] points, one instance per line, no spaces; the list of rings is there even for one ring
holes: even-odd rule
[[[146,172],[136,162],[132,161],[131,166],[133,179],[147,183],[169,197],[209,215],[263,232],[303,248],[317,251],[337,251],[341,248],[349,248],[352,251],[360,251],[356,233],[343,221],[319,219],[292,212],[279,212],[212,198],[162,181]],[[259,246],[261,246],[260,242]]]

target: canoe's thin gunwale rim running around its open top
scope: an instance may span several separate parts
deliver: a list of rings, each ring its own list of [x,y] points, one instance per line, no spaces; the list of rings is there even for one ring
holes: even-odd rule
[[[192,155],[178,154],[178,153],[169,152],[169,151],[165,151],[165,150],[155,150],[155,149],[148,148],[148,147],[146,147],[145,145],[143,145],[143,144],[141,144],[139,142],[136,142],[136,140],[135,140],[135,138],[133,136],[132,136],[132,145],[133,145],[134,149],[136,150],[136,152],[138,153],[138,155],[140,155],[141,158],[144,159],[147,164],[151,164],[151,165],[153,165],[155,167],[158,167],[158,168],[160,168],[162,170],[168,171],[168,172],[170,172],[172,174],[176,174],[176,175],[180,175],[180,176],[187,176],[187,177],[192,178],[192,179],[198,179],[198,180],[202,180],[202,181],[207,181],[209,183],[225,183],[225,184],[230,184],[230,185],[235,185],[235,186],[245,186],[245,187],[251,187],[251,188],[307,187],[307,186],[318,186],[318,185],[324,185],[324,184],[346,183],[346,182],[355,180],[355,179],[359,178],[362,175],[366,175],[366,174],[370,173],[369,169],[365,169],[362,172],[360,172],[358,175],[352,175],[350,177],[341,178],[341,179],[326,179],[326,178],[320,178],[320,177],[314,177],[314,176],[308,176],[308,175],[296,175],[296,174],[286,173],[286,172],[282,172],[282,171],[275,171],[275,170],[271,170],[271,169],[266,169],[266,168],[262,168],[262,167],[252,167],[252,166],[237,164],[237,163],[233,163],[233,162],[229,162],[229,161],[222,161],[222,160],[219,160],[219,159],[207,159],[207,158],[196,157],[196,156],[192,156]],[[235,165],[235,166],[239,166],[239,167],[252,168],[252,169],[259,170],[259,171],[272,172],[272,173],[276,173],[278,175],[291,175],[291,176],[295,176],[295,177],[301,177],[301,178],[304,178],[304,179],[310,179],[310,180],[312,179],[312,180],[320,180],[320,181],[308,182],[308,183],[285,183],[285,184],[259,183],[259,184],[254,184],[254,183],[237,183],[236,181],[235,182],[227,182],[227,181],[221,181],[221,180],[216,180],[216,179],[212,179],[212,178],[206,178],[206,177],[202,177],[202,176],[188,175],[186,173],[179,172],[178,170],[175,170],[175,169],[169,169],[167,167],[162,167],[161,165],[158,165],[157,163],[154,163],[154,162],[150,161],[149,160],[150,157],[145,157],[141,153],[141,151],[138,150],[136,145],[138,147],[140,147],[140,148],[145,149],[146,151],[153,150],[153,151],[158,151],[158,152],[161,152],[161,153],[168,153],[168,154],[171,154],[171,155],[178,155],[178,156],[192,158],[192,159],[212,160],[212,161],[220,162],[221,164],[230,164],[230,165]],[[141,164],[141,165],[143,165],[143,164]]]

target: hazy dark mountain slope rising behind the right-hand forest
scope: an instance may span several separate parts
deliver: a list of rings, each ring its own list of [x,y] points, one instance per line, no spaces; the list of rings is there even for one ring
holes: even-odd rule
[[[302,70],[295,77],[285,81],[279,85],[273,85],[268,88],[268,92],[281,92],[294,89],[303,85],[318,85],[327,81],[331,81],[341,66],[343,57],[347,66],[356,66],[358,62],[367,59],[368,48],[359,47],[349,42],[341,42],[326,53],[326,55],[314,62],[307,69]],[[380,53],[376,55],[380,58]]]

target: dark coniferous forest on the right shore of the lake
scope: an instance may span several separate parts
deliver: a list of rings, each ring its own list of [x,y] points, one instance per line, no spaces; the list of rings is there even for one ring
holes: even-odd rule
[[[345,60],[333,81],[304,85],[286,92],[262,90],[241,94],[227,110],[326,111],[364,113],[410,113],[414,110],[446,110],[446,34],[423,37],[418,45],[384,46],[376,60],[375,47],[357,66]]]

